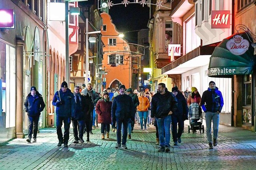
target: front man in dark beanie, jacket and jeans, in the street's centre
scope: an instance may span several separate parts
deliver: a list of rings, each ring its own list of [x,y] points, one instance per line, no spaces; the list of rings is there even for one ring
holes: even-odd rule
[[[116,149],[121,148],[127,149],[126,147],[126,140],[127,140],[127,129],[128,129],[128,122],[129,119],[134,116],[135,107],[132,101],[132,98],[125,94],[125,86],[121,85],[119,87],[120,94],[116,96],[113,100],[113,104],[111,107],[111,116],[113,121],[113,127],[116,124],[116,138],[117,144]],[[124,133],[122,135],[122,146],[121,146],[121,129],[122,125],[124,128]]]

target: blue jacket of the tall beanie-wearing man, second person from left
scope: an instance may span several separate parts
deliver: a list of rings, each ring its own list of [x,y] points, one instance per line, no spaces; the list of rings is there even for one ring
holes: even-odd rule
[[[60,89],[55,92],[52,105],[56,106],[56,116],[71,117],[71,113],[74,112],[75,108],[74,94],[69,88],[66,92],[62,92]]]

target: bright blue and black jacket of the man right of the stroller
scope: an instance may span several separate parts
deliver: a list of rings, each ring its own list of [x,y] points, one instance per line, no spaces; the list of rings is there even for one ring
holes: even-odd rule
[[[217,87],[204,91],[200,103],[204,112],[221,112],[223,105],[223,97]]]

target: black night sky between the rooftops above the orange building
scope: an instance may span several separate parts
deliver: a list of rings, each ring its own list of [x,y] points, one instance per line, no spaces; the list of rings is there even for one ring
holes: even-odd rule
[[[120,3],[123,0],[112,1]],[[126,7],[123,4],[115,5],[110,7],[109,14],[118,31],[124,33],[124,38],[130,43],[137,43],[138,31],[135,30],[147,29],[149,8],[145,5],[144,7],[141,4],[128,4]]]

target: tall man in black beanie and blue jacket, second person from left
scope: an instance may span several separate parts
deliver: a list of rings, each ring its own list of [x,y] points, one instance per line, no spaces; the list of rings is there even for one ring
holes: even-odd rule
[[[59,139],[57,146],[61,147],[63,143],[64,147],[68,147],[71,114],[74,112],[75,101],[67,82],[62,82],[60,90],[55,92],[52,105],[56,106],[56,131]],[[61,129],[62,122],[64,122],[64,135]]]

